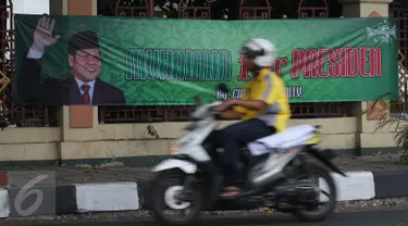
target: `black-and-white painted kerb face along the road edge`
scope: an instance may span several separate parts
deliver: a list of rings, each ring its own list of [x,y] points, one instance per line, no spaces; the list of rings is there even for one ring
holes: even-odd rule
[[[338,201],[363,201],[384,198],[408,197],[408,170],[347,172],[348,177],[333,174]],[[90,212],[136,211],[149,206],[148,181],[119,181],[77,184],[67,186],[34,187],[44,193],[44,202],[29,215],[23,212],[33,205],[16,210],[14,200],[17,188],[0,188],[0,217],[60,215]],[[33,188],[33,189],[34,189]],[[47,199],[47,196],[54,198]],[[35,196],[33,196],[35,197]],[[28,199],[28,198],[27,198]]]

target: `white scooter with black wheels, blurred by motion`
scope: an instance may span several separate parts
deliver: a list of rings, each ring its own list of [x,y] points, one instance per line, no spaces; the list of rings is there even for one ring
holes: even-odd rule
[[[228,92],[224,84],[219,90]],[[319,148],[321,135],[313,125],[293,126],[247,143],[240,161],[243,191],[234,198],[220,198],[223,176],[218,159],[222,156],[209,137],[219,125],[212,106],[221,102],[201,104],[196,97],[195,103],[193,122],[185,128],[188,133],[170,148],[172,159],[152,168],[150,210],[159,222],[191,224],[201,211],[214,206],[271,208],[292,213],[301,222],[323,221],[334,211],[336,186],[331,172],[346,175],[331,161],[331,150]]]

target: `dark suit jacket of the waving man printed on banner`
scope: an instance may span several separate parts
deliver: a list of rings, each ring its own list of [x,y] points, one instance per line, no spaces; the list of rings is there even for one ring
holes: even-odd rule
[[[22,59],[22,68],[17,76],[18,97],[28,104],[70,105],[84,104],[82,95],[73,77],[59,79],[47,77],[40,83],[42,59]],[[121,89],[96,79],[92,105],[125,104],[126,99]]]

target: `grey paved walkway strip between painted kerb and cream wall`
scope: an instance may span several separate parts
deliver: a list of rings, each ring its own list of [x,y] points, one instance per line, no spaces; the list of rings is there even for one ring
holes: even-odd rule
[[[334,164],[343,171],[382,171],[382,170],[400,170],[407,168],[405,165],[396,164],[399,161],[399,154],[366,155],[366,156],[341,156],[333,160]],[[152,161],[147,161],[153,163]],[[11,171],[11,177],[16,176],[23,181],[28,181],[38,174],[28,174],[30,172],[40,172],[55,174],[55,184],[72,185],[84,183],[112,183],[112,181],[140,181],[151,178],[149,167],[122,167],[123,163],[108,163],[109,167],[90,167],[90,166],[52,166],[52,167],[24,167],[8,170]],[[3,167],[0,164],[0,170]],[[13,173],[14,172],[14,173]],[[20,174],[15,172],[22,172]],[[17,181],[16,178],[11,179]]]

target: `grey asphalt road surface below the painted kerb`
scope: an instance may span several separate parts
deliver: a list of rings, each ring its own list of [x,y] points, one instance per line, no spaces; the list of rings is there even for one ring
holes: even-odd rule
[[[109,222],[108,222],[109,221]],[[12,226],[39,226],[39,225],[62,225],[62,226],[159,226],[153,221],[135,221],[135,219],[107,219],[98,222],[64,222],[64,223],[15,223],[0,225]],[[321,223],[299,223],[292,215],[276,214],[272,216],[213,216],[200,218],[198,225],[220,225],[220,226],[408,226],[408,209],[406,210],[382,210],[382,211],[367,211],[367,212],[349,212],[333,214],[325,222]],[[191,225],[193,226],[193,225]]]

